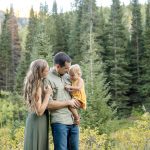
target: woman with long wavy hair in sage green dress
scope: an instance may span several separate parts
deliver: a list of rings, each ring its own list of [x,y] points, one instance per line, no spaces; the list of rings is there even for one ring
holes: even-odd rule
[[[46,110],[52,90],[44,87],[42,79],[48,75],[49,66],[43,59],[30,65],[25,77],[24,98],[29,108],[26,120],[24,150],[48,150],[48,111]]]

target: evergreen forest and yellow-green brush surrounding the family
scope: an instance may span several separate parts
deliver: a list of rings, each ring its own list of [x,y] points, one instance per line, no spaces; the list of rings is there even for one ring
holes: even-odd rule
[[[81,149],[148,150],[150,0],[145,5],[132,0],[128,6],[112,0],[111,7],[74,0],[74,9],[65,13],[58,13],[54,1],[52,8],[41,4],[38,14],[31,8],[23,25],[13,7],[7,10],[0,34],[0,135],[7,132],[7,145],[14,149],[23,145],[27,111],[22,89],[29,64],[44,58],[52,66],[59,51],[83,71],[87,110],[80,112]]]

